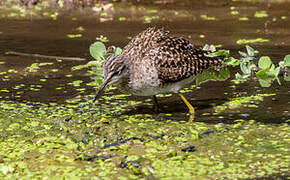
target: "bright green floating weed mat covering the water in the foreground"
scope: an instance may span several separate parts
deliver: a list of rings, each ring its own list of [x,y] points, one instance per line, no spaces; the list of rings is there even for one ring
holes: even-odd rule
[[[114,117],[112,109],[80,105],[1,101],[0,176],[244,179],[289,172],[287,124],[182,123],[148,114]],[[183,151],[187,147],[195,148]]]

